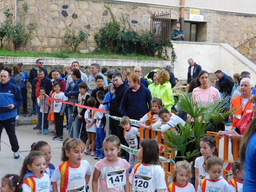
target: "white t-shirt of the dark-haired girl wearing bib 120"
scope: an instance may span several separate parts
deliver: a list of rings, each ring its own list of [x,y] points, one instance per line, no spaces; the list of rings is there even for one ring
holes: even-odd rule
[[[134,170],[136,169],[136,172]],[[132,169],[129,182],[133,185],[132,191],[136,192],[136,187],[145,189],[143,191],[156,191],[166,189],[165,172],[160,165],[143,165],[140,163]],[[146,188],[145,188],[146,187]],[[147,190],[146,190],[147,189]]]

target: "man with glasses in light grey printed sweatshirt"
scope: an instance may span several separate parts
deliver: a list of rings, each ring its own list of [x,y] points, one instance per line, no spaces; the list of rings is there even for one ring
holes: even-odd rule
[[[96,75],[100,75],[103,77],[103,86],[102,87],[105,87],[106,85],[108,85],[108,80],[101,72],[99,72],[99,70],[100,70],[100,65],[98,63],[91,64],[91,75],[89,76],[88,81],[87,81],[88,92],[90,94],[97,88],[96,81],[95,81]]]

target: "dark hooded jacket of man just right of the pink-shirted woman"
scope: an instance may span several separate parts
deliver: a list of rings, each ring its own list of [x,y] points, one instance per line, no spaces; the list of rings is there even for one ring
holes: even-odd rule
[[[227,94],[226,96],[229,96],[231,95],[234,86],[233,78],[226,73],[222,73],[222,78],[216,83],[216,87],[217,86],[221,89],[222,94]]]

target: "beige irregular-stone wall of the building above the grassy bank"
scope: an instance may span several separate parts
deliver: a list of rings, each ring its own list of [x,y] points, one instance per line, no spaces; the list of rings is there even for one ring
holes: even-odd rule
[[[0,2],[5,1],[6,4],[11,2],[11,0]],[[21,9],[24,0],[17,2],[18,8]],[[90,35],[79,45],[79,51],[93,52],[96,48],[95,34],[110,21],[110,13],[104,6],[111,8],[117,20],[124,15],[137,32],[150,30],[152,13],[171,11],[172,30],[175,29],[175,22],[180,17],[180,8],[109,0],[27,0],[27,3],[29,14],[25,23],[34,23],[37,26],[35,37],[27,48],[35,52],[70,50],[68,42],[64,40],[66,27],[69,24],[72,24],[76,31],[83,29]],[[189,22],[189,8],[185,8],[184,20]],[[128,27],[128,23],[126,25]],[[251,14],[204,10],[204,22],[198,23],[198,42],[228,43],[231,47],[237,47],[255,33],[256,16]],[[251,40],[237,51],[247,58],[256,58],[255,43],[256,40]],[[6,41],[6,45],[12,48],[10,42]]]

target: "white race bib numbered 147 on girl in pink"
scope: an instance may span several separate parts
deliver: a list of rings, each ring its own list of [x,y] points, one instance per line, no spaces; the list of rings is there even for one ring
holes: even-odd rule
[[[125,185],[126,184],[125,174],[126,174],[125,169],[108,172],[106,174],[107,175],[106,182],[107,182],[108,189]]]

